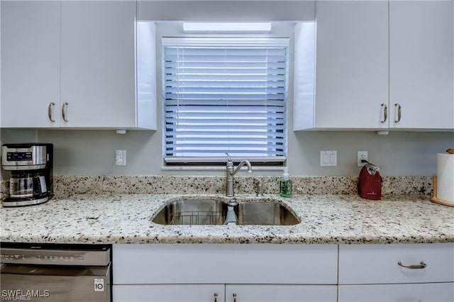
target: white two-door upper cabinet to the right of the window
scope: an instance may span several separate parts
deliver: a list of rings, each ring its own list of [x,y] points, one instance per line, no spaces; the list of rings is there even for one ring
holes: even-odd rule
[[[297,26],[294,130],[454,129],[453,6],[317,1],[312,82]]]

